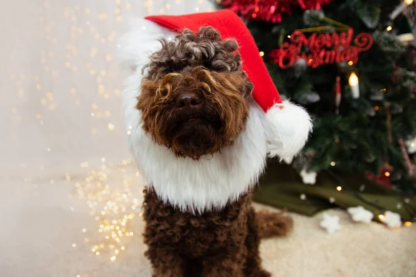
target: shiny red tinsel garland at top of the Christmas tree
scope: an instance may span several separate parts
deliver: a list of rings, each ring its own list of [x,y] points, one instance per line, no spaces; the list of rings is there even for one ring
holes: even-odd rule
[[[282,15],[291,15],[297,7],[302,10],[320,10],[333,0],[223,0],[221,4],[248,19],[281,22]]]

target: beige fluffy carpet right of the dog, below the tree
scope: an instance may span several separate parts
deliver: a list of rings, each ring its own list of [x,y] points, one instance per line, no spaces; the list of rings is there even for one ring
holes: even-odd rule
[[[263,265],[273,276],[352,277],[416,276],[416,226],[388,229],[382,224],[356,224],[344,211],[342,229],[329,235],[314,217],[291,214],[295,229],[287,238],[263,240]]]

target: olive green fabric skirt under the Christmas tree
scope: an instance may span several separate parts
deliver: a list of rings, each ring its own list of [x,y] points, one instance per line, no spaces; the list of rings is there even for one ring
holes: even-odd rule
[[[291,166],[277,160],[268,161],[254,199],[303,215],[315,215],[327,208],[363,206],[374,213],[374,220],[385,211],[399,213],[402,221],[416,220],[415,197],[401,196],[354,172],[320,172],[315,184],[303,184]]]

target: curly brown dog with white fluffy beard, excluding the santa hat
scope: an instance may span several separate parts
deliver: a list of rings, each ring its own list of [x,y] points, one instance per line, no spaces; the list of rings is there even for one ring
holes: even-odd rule
[[[281,214],[257,218],[252,207],[266,146],[238,44],[211,27],[161,42],[137,97],[144,134],[132,137],[147,143],[139,166],[153,174],[144,191],[153,276],[270,276],[259,238],[284,235],[292,222]]]

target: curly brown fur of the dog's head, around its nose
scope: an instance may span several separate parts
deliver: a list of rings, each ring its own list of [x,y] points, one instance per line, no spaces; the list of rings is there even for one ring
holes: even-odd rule
[[[143,128],[156,143],[177,157],[199,159],[234,141],[245,127],[253,89],[237,48],[234,39],[221,41],[211,27],[162,40],[162,49],[150,57],[137,102]],[[177,109],[175,100],[184,92],[195,93],[201,105]]]

